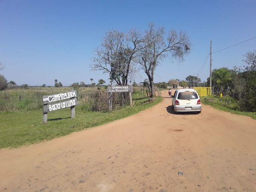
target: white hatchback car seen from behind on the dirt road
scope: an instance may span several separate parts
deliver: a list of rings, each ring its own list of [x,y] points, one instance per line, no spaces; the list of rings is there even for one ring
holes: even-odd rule
[[[177,89],[172,97],[172,106],[174,112],[202,111],[201,100],[194,89]]]

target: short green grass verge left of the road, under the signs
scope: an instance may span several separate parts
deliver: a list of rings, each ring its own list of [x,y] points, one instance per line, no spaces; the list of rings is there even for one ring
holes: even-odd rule
[[[161,97],[150,102],[149,98],[134,101],[132,108],[126,106],[112,112],[83,112],[76,109],[76,118],[70,119],[70,109],[48,113],[48,123],[42,123],[42,110],[1,112],[0,148],[18,147],[51,140],[75,131],[103,125],[116,119],[122,119],[150,108],[162,101]]]

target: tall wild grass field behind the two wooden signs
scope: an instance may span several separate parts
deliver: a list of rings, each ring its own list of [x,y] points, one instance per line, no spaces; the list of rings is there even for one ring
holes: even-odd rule
[[[135,99],[145,96],[141,92],[141,87],[134,87]],[[64,93],[73,90],[73,87],[29,87],[15,88],[0,91],[0,111],[32,111],[43,108],[42,98],[44,95],[55,93]],[[79,95],[79,105],[77,106],[82,111],[107,111],[108,110],[108,95],[106,89],[101,87],[99,90],[91,87],[77,88]],[[125,105],[128,105],[128,96],[125,97]],[[121,93],[114,93],[113,109],[122,107]]]

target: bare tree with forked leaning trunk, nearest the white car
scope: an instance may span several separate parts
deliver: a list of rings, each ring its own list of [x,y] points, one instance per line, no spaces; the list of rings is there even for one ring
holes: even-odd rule
[[[148,76],[151,87],[150,96],[155,96],[154,92],[154,71],[163,58],[172,55],[180,61],[184,60],[184,55],[189,53],[190,41],[185,32],[177,33],[171,30],[167,39],[164,38],[165,30],[163,27],[156,28],[154,24],[149,25],[145,32],[144,49],[140,51],[138,63],[142,66]]]

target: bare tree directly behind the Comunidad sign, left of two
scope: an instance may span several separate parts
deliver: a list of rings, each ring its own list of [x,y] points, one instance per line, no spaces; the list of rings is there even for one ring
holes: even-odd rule
[[[109,31],[101,46],[96,49],[96,57],[90,67],[109,73],[110,79],[118,85],[127,85],[134,58],[138,56],[138,51],[143,49],[142,37],[136,29],[131,29],[128,34]]]

